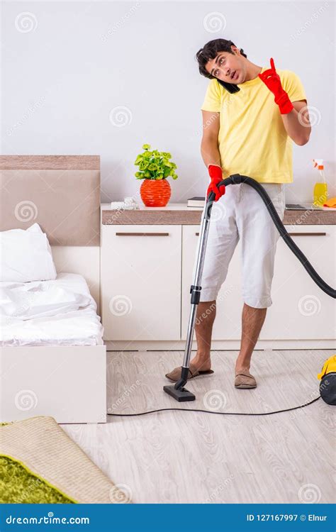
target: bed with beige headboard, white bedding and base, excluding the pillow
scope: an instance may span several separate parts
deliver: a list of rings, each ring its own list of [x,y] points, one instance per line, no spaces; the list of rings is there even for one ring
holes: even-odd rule
[[[47,235],[55,279],[0,282],[0,421],[106,422],[100,160],[0,157],[0,231]]]

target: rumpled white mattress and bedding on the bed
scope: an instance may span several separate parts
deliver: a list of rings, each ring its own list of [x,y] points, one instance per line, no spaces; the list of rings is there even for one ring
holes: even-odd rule
[[[82,275],[0,282],[0,345],[103,345],[96,309]]]

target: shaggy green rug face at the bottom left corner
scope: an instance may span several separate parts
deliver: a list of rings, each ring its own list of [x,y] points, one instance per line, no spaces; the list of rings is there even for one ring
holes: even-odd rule
[[[66,495],[43,478],[30,472],[21,462],[0,455],[1,504],[73,504]]]

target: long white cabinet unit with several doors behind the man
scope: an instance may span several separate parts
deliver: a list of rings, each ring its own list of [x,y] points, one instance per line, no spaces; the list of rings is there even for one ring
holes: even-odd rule
[[[111,223],[107,211],[107,223],[101,228],[101,315],[103,338],[112,350],[185,347],[200,226],[176,223],[179,209],[171,209],[167,215],[159,208],[153,212],[145,209],[144,224]],[[135,216],[141,218],[139,213]],[[152,216],[157,223],[151,223]],[[172,223],[162,223],[162,216]],[[194,215],[191,212],[188,216]],[[286,225],[286,230],[294,233],[293,240],[316,272],[335,287],[336,226],[297,224]],[[258,348],[335,345],[335,299],[313,282],[281,238],[271,298],[273,304],[267,309]],[[238,242],[216,300],[213,349],[239,349],[242,306]]]

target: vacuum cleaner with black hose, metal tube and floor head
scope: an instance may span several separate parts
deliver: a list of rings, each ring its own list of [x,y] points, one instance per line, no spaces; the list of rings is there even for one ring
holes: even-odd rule
[[[303,267],[307,270],[310,277],[313,279],[313,281],[320,287],[325,294],[327,294],[330,297],[336,298],[336,290],[330,287],[321,277],[318,275],[318,273],[314,270],[313,266],[310,264],[308,259],[305,255],[303,255],[302,251],[296,243],[293,241],[289,233],[287,233],[286,228],[284,227],[284,224],[282,223],[278,213],[276,212],[276,209],[271,201],[271,198],[267,194],[264,187],[262,187],[259,182],[257,182],[255,179],[252,179],[252,177],[248,177],[246,175],[240,175],[240,174],[232,174],[226,179],[223,179],[217,184],[217,187],[221,187],[222,185],[225,185],[225,187],[228,187],[229,184],[240,184],[240,183],[246,183],[250,185],[258,194],[261,196],[262,201],[264,201],[265,206],[267,207],[267,210],[269,211],[269,214],[271,215],[271,219],[273,220],[276,228],[278,229],[281,237],[286,242],[286,245],[289,246],[289,249],[296,255],[298,260],[300,260]],[[182,401],[194,401],[196,399],[195,395],[189,392],[187,389],[184,388],[187,380],[188,380],[188,373],[189,373],[189,361],[190,361],[190,355],[191,355],[191,344],[194,337],[194,328],[195,328],[195,321],[196,321],[196,309],[197,305],[199,303],[200,297],[201,297],[201,279],[202,279],[202,273],[203,273],[203,262],[204,257],[206,253],[206,242],[208,239],[208,226],[211,219],[211,210],[213,206],[213,200],[215,199],[215,193],[209,192],[208,198],[206,201],[206,207],[203,210],[203,216],[201,221],[201,231],[200,231],[200,238],[198,240],[198,250],[197,250],[197,263],[196,263],[196,270],[194,275],[194,284],[191,284],[190,287],[190,293],[191,293],[191,311],[189,316],[189,323],[188,323],[188,333],[186,337],[186,348],[184,352],[184,360],[181,367],[181,377],[177,381],[176,384],[172,384],[169,386],[164,386],[164,392],[169,394],[170,396],[174,397],[179,402]],[[331,366],[331,364],[330,364]],[[325,400],[325,397],[327,397],[328,404],[336,404],[336,392],[335,392],[335,386],[336,386],[336,367],[335,364],[332,365],[334,368],[334,372],[326,373],[325,379],[329,379],[328,386],[325,387],[327,392],[325,390],[321,391],[321,397]],[[322,378],[322,375],[321,375]],[[332,382],[332,386],[329,385],[329,383]],[[320,384],[320,390],[321,386],[323,384],[323,379]],[[325,384],[325,382],[324,382]],[[325,397],[323,397],[323,393],[325,392]],[[334,402],[332,402],[334,401]]]

